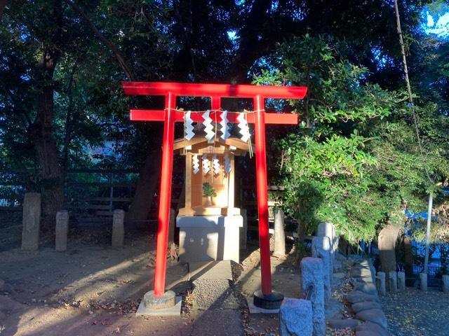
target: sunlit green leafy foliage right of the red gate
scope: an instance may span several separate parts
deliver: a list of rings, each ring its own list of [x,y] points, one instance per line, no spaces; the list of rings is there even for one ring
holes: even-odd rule
[[[425,207],[426,169],[438,181],[449,176],[445,149],[433,143],[426,142],[424,167],[404,94],[367,80],[368,69],[349,62],[344,42],[296,37],[278,45],[269,66],[275,70],[261,71],[254,83],[308,88],[302,102],[290,103],[300,127],[276,142],[283,202],[308,232],[330,221],[349,241],[373,239],[384,223],[403,225],[405,207]],[[428,118],[420,127],[445,137],[431,133],[435,119],[426,109],[417,108]]]

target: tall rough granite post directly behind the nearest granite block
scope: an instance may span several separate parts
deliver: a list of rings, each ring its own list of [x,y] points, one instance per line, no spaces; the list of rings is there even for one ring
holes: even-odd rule
[[[310,257],[302,258],[301,281],[302,297],[309,294],[311,301],[313,335],[324,336],[326,322],[324,321],[323,260]],[[307,293],[309,288],[311,288],[311,293]]]

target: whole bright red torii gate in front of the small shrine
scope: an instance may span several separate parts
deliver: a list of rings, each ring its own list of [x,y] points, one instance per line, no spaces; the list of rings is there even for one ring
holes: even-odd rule
[[[292,113],[265,113],[264,98],[302,99],[307,87],[301,86],[258,86],[206,83],[163,83],[122,82],[123,90],[129,95],[159,95],[166,97],[163,110],[130,111],[130,120],[163,121],[163,144],[161,165],[161,187],[159,192],[158,230],[156,236],[156,265],[154,270],[154,297],[165,292],[166,252],[168,221],[170,216],[171,180],[173,169],[173,141],[176,122],[184,121],[184,113],[175,107],[176,97],[210,97],[210,118],[221,120],[222,97],[253,98],[255,113],[248,113],[248,123],[254,123],[255,163],[257,177],[257,213],[259,217],[260,273],[262,292],[255,293],[254,304],[263,308],[276,308],[283,299],[272,292],[272,274],[269,256],[269,224],[267,194],[267,160],[265,155],[265,124],[297,124],[297,115]],[[202,116],[192,113],[192,120],[203,121]],[[229,123],[238,123],[235,114],[228,114]]]

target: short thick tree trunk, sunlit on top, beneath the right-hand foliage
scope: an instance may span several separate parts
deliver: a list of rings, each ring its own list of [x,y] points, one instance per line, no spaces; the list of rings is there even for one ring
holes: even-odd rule
[[[380,267],[382,272],[396,271],[396,239],[398,238],[399,228],[394,225],[387,225],[380,230],[377,237],[379,247]]]

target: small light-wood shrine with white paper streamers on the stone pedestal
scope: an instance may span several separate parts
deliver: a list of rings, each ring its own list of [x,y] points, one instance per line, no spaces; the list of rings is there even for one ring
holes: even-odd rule
[[[194,136],[175,140],[173,150],[185,155],[185,207],[179,216],[234,216],[234,158],[250,151],[248,141]],[[211,200],[203,195],[203,183],[216,193]],[[210,202],[211,201],[211,202]]]

